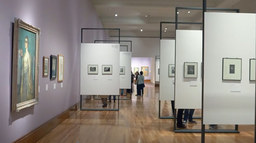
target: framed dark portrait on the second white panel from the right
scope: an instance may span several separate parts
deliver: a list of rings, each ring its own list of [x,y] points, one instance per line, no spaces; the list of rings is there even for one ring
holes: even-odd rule
[[[184,62],[184,78],[197,78],[197,62]]]

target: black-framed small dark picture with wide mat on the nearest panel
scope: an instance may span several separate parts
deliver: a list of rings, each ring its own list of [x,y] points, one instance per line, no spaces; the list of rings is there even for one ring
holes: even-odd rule
[[[222,80],[241,81],[242,59],[223,58],[222,60]]]

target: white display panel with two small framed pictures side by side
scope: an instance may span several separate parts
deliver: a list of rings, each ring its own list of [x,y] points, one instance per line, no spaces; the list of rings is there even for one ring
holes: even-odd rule
[[[81,95],[119,95],[119,44],[81,44]],[[88,74],[88,65],[98,65],[98,74]],[[112,74],[102,75],[102,65],[112,65]]]

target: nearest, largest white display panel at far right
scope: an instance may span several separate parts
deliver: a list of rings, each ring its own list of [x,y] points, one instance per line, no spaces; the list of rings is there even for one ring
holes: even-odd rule
[[[205,13],[203,124],[254,124],[249,59],[255,58],[255,31],[255,14]],[[222,58],[242,59],[241,81],[222,80]]]

